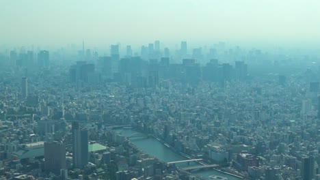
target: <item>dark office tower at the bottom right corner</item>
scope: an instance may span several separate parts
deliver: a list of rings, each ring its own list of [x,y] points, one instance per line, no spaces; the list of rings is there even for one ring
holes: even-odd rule
[[[306,156],[302,158],[302,178],[310,180],[315,177],[315,158]]]

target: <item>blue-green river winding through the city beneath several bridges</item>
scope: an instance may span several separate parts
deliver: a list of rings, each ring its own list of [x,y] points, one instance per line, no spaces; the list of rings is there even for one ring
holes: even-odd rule
[[[139,133],[132,129],[121,129],[117,131],[122,131],[124,136],[131,136],[131,134]],[[153,157],[156,157],[158,160],[162,162],[174,162],[174,161],[181,161],[181,160],[187,160],[187,157],[184,157],[183,155],[180,155],[174,151],[172,151],[170,148],[163,145],[161,142],[159,142],[155,138],[131,138],[130,142],[136,145],[139,149],[144,151],[145,153],[152,155]],[[191,162],[189,165],[196,165],[196,162]],[[187,163],[184,164],[176,164],[176,166],[188,166]],[[191,171],[195,175],[199,175],[202,177],[208,178],[211,175],[217,175],[220,177],[227,177],[228,180],[239,180],[237,177],[233,177],[231,175],[226,175],[222,172],[219,172],[217,170],[194,170]]]

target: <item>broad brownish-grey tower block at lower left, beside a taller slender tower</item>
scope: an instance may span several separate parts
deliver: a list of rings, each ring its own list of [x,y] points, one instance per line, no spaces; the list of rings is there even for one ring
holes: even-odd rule
[[[44,142],[44,170],[60,174],[66,168],[66,146],[61,142]]]

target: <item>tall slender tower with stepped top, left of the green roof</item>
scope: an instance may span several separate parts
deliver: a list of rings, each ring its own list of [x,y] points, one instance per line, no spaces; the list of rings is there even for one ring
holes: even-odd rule
[[[72,123],[72,162],[75,168],[88,164],[88,130],[81,130],[79,122]]]

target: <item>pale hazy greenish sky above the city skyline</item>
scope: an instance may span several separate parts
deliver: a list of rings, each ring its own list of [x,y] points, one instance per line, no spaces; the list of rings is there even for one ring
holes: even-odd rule
[[[320,42],[319,0],[0,0],[0,44]]]

